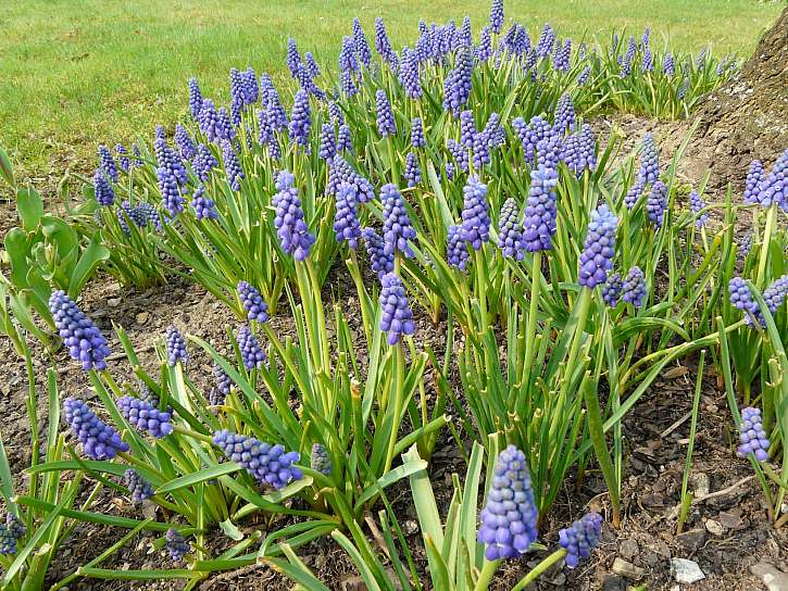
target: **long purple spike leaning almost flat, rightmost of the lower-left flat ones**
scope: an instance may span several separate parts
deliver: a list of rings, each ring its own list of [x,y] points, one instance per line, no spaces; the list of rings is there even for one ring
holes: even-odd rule
[[[299,453],[285,452],[282,445],[271,445],[228,430],[216,431],[213,443],[230,462],[239,464],[261,485],[280,490],[303,477],[301,470],[295,466],[299,461]]]

